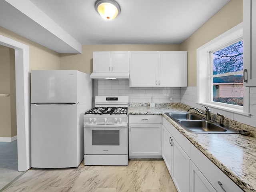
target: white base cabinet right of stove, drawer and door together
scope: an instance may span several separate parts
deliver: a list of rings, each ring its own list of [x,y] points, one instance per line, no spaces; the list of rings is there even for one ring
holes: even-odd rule
[[[161,158],[161,115],[129,115],[128,132],[130,158]]]

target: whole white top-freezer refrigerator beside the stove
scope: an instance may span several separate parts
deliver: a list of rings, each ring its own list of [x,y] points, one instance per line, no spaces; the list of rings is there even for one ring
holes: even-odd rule
[[[77,70],[31,71],[31,166],[78,167],[84,157],[84,112],[92,80]]]

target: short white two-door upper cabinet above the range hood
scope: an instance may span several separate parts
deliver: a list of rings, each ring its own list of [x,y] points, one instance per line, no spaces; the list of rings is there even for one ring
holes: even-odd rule
[[[129,52],[93,52],[93,72],[129,72]]]

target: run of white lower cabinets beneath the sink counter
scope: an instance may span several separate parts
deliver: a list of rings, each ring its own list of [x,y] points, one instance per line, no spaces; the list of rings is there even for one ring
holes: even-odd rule
[[[243,192],[168,120],[162,122],[162,157],[178,192]]]

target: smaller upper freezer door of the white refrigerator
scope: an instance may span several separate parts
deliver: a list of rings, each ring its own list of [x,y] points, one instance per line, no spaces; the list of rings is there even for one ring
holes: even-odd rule
[[[31,103],[78,103],[76,70],[32,70]]]

